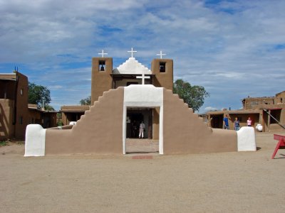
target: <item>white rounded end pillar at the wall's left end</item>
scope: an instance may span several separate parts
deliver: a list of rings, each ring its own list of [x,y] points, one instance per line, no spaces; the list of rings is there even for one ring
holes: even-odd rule
[[[46,129],[39,124],[26,127],[25,157],[44,156],[46,146]]]

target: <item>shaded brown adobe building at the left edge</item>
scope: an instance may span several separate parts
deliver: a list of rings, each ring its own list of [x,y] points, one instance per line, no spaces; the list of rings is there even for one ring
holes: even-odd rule
[[[0,140],[24,139],[28,124],[56,126],[56,111],[28,104],[28,77],[15,71],[0,73]]]

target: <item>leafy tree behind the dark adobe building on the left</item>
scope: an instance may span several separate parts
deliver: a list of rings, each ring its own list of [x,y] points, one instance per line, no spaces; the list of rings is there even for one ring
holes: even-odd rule
[[[41,104],[49,104],[51,102],[51,92],[47,87],[28,82],[28,103],[37,104],[41,108]]]

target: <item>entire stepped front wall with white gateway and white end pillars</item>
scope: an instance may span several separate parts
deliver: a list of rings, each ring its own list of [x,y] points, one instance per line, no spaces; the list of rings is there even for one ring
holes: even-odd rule
[[[171,90],[152,85],[130,85],[104,92],[72,129],[41,128],[36,133],[33,126],[28,125],[25,155],[124,153],[127,107],[160,108],[160,153],[256,151],[252,127],[244,127],[238,134],[209,128]],[[41,146],[38,141],[42,141]],[[38,151],[33,152],[34,147],[38,147]]]

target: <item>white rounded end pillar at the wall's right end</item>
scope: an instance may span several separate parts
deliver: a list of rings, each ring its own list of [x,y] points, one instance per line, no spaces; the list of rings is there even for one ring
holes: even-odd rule
[[[257,151],[253,127],[243,126],[237,131],[237,151]]]

